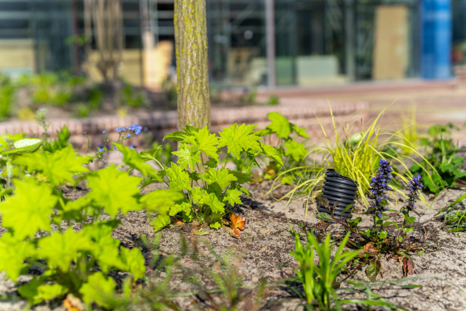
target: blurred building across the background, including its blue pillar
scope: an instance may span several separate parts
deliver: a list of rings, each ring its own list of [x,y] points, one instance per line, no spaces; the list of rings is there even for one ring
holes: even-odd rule
[[[118,62],[118,76],[154,90],[173,77],[173,0],[112,0],[121,10],[102,11],[109,14],[104,19],[113,20],[100,30],[86,26],[87,18],[98,20],[96,7],[86,8],[85,1],[0,0],[0,71],[19,76],[85,70],[102,81],[103,64]],[[101,0],[89,1],[98,6]],[[220,88],[448,79],[465,62],[465,0],[206,0],[206,5],[210,79]],[[106,25],[115,37],[105,43],[107,58],[99,43]]]

